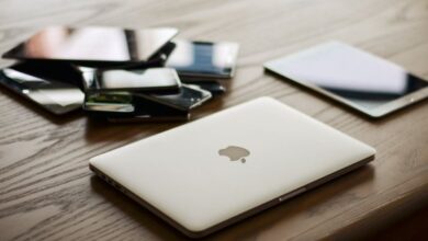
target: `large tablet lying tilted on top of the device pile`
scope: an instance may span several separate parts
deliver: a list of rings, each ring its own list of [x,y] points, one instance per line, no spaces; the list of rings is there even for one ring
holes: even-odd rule
[[[178,33],[173,27],[52,26],[7,51],[3,58],[72,62],[146,62]]]

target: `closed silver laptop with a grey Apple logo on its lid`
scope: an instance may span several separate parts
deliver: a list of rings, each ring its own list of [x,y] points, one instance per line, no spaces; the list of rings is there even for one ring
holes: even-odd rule
[[[261,97],[89,163],[183,233],[203,237],[357,169],[374,153],[359,140]]]

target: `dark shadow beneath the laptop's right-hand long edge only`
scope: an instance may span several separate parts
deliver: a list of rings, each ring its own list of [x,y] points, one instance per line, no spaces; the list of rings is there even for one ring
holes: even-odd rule
[[[374,167],[371,164],[364,165],[348,174],[339,176],[326,184],[323,184],[314,190],[307,191],[293,197],[278,206],[271,207],[254,217],[245,219],[223,231],[213,233],[210,239],[214,240],[244,240],[259,237],[259,233],[267,232],[273,227],[278,227],[281,222],[293,223],[290,227],[296,228],[293,221],[296,218],[311,219],[326,215],[327,213],[338,208],[338,206],[346,206],[347,202],[358,198],[354,195],[345,194],[350,190],[368,184],[374,179]],[[339,200],[337,200],[339,199]],[[294,219],[294,220],[293,220]],[[327,217],[319,220],[327,220]],[[299,222],[296,222],[299,225]],[[307,223],[314,223],[308,221]],[[299,226],[297,226],[299,227]],[[307,230],[313,227],[305,227],[303,223],[299,227],[302,230]],[[282,231],[282,237],[275,239],[290,239],[285,233],[300,233],[296,229]],[[260,238],[262,239],[262,238]]]

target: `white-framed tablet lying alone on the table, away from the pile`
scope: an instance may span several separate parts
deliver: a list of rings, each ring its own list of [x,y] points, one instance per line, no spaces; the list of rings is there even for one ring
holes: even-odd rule
[[[381,117],[428,96],[428,81],[352,46],[329,42],[264,68],[371,117]]]

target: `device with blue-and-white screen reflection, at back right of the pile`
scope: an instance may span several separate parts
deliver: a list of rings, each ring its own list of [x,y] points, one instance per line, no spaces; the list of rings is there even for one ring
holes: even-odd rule
[[[173,41],[176,48],[167,67],[180,77],[232,78],[235,73],[239,45],[230,42]]]

